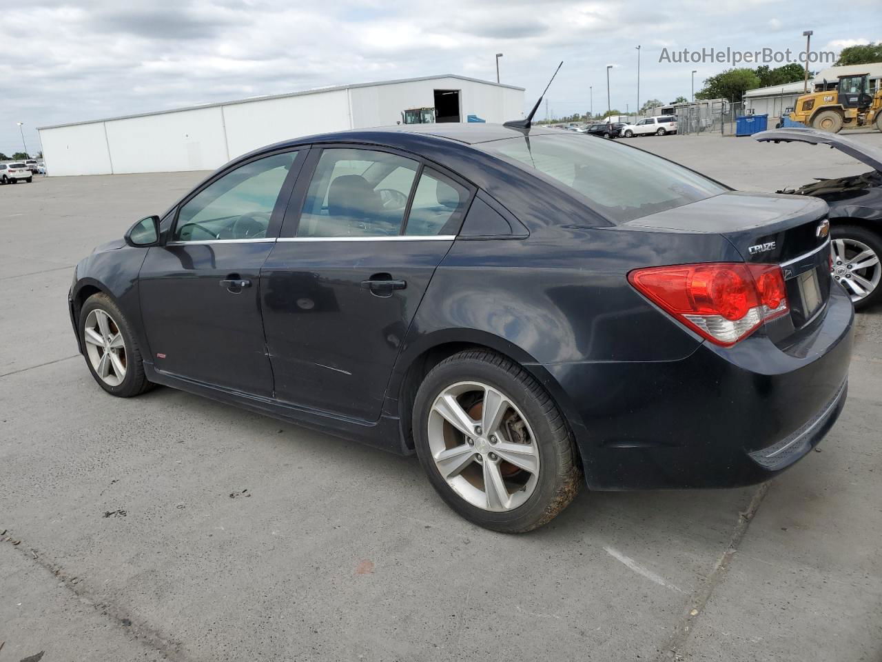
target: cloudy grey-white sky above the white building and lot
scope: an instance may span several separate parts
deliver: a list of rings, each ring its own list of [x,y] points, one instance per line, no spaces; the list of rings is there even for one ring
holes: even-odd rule
[[[558,115],[689,96],[729,64],[659,63],[662,48],[804,49],[882,40],[879,0],[27,0],[0,10],[0,152],[35,127],[310,87],[458,73],[549,90]],[[540,112],[544,117],[544,109]]]

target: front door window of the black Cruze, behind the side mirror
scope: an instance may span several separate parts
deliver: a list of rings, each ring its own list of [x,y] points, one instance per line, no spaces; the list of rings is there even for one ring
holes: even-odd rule
[[[297,154],[273,154],[246,163],[206,186],[181,207],[174,240],[265,238]]]

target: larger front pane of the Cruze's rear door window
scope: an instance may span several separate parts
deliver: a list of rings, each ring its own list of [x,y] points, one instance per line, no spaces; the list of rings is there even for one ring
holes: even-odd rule
[[[398,235],[419,162],[370,149],[325,149],[303,201],[297,237]]]

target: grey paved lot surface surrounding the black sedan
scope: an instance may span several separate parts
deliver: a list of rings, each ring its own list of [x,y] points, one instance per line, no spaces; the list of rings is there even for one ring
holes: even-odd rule
[[[866,169],[744,138],[629,144],[757,191]],[[882,310],[858,316],[821,452],[770,484],[583,492],[505,536],[415,458],[93,383],[73,265],[203,176],[0,187],[0,662],[882,659]]]

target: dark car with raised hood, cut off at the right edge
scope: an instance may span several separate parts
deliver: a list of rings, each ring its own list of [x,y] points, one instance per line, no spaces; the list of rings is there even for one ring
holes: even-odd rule
[[[871,167],[863,175],[819,178],[781,193],[810,195],[830,207],[830,268],[857,310],[882,301],[882,149],[817,129],[789,128],[755,133],[760,142],[826,145]]]

